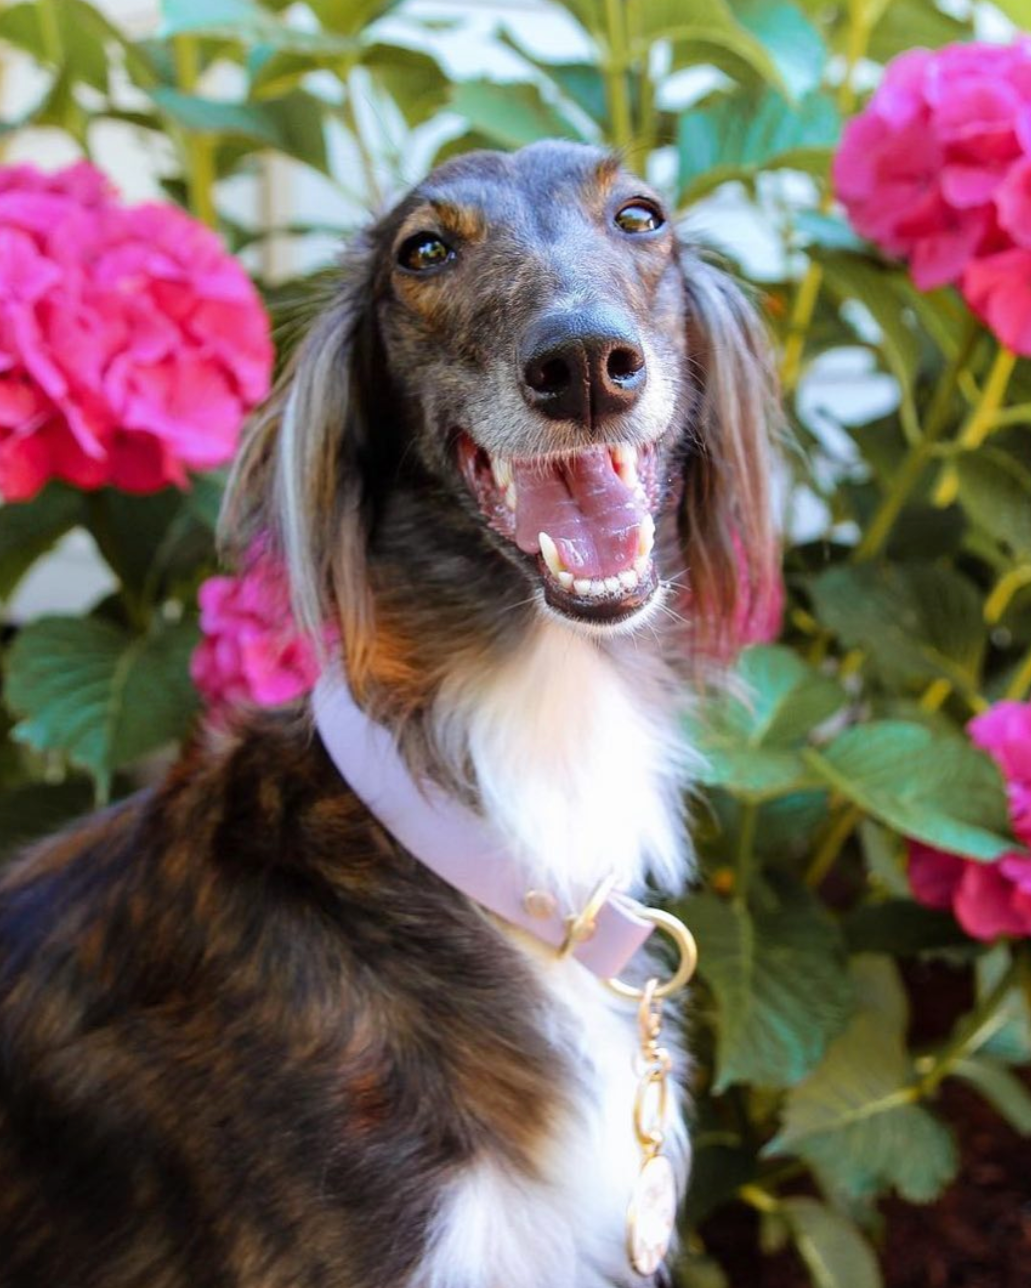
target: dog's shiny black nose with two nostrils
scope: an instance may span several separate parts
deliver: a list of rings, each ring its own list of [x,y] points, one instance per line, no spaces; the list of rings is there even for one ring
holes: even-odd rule
[[[615,309],[546,313],[523,343],[523,394],[553,420],[597,426],[629,411],[647,379],[637,331]]]

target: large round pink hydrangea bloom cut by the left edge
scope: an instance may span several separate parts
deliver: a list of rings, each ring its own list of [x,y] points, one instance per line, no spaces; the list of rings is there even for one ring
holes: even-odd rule
[[[81,164],[0,169],[0,493],[153,492],[229,460],[268,319],[218,237]]]

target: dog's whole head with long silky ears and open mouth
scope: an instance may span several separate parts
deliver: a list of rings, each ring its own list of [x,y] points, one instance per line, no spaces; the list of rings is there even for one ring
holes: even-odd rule
[[[768,392],[744,298],[612,156],[470,153],[347,252],[245,444],[231,536],[278,540],[360,683],[384,623],[398,650],[428,611],[606,635],[669,585],[719,653],[776,576]]]

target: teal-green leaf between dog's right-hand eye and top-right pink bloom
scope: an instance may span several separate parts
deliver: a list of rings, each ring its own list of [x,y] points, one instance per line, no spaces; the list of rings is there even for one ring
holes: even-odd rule
[[[728,179],[762,170],[826,171],[840,118],[825,94],[789,103],[772,90],[760,98],[724,94],[687,111],[677,131],[680,201],[696,201]]]

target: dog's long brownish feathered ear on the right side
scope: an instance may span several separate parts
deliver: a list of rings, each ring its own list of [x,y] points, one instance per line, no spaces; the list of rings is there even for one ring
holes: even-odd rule
[[[696,654],[726,661],[781,592],[775,377],[766,331],[741,290],[689,250],[682,267],[699,385],[678,516],[688,618]]]

